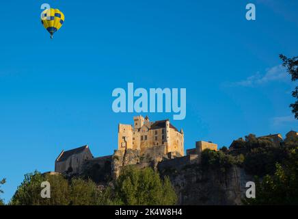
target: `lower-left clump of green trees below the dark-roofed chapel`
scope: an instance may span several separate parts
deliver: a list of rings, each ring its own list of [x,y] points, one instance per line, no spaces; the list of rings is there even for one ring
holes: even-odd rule
[[[43,181],[51,185],[51,198],[40,196]],[[25,175],[10,205],[96,205],[98,194],[95,183],[90,180],[73,178],[69,183],[62,175],[42,175],[35,171]]]

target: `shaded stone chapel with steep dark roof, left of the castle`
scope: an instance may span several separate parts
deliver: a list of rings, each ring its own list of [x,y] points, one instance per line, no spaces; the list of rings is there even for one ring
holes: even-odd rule
[[[93,159],[93,155],[87,145],[70,151],[63,150],[55,160],[55,172],[66,175],[81,174],[83,164],[90,159]]]

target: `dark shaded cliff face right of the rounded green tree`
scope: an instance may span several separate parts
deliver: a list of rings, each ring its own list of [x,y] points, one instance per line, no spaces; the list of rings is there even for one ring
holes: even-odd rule
[[[178,194],[179,205],[241,205],[245,184],[252,181],[244,170],[232,166],[227,172],[203,169],[200,164],[182,168],[159,168]]]

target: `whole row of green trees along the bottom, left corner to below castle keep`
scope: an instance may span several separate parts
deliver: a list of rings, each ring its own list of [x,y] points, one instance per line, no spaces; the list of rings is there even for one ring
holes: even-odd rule
[[[42,181],[49,181],[51,198],[40,196]],[[151,168],[126,167],[107,188],[90,179],[32,172],[25,175],[10,205],[174,205],[176,201],[168,178],[162,180]]]

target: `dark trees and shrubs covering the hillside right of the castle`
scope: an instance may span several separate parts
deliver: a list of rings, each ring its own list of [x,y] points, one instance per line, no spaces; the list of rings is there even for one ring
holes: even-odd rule
[[[276,146],[269,138],[249,134],[223,151],[204,150],[202,165],[221,172],[238,165],[254,175],[256,198],[245,199],[244,203],[298,205],[298,137],[287,138]]]

